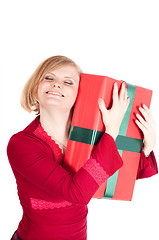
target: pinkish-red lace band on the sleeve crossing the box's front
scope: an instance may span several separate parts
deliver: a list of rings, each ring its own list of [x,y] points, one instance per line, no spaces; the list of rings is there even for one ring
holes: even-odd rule
[[[102,166],[93,158],[89,159],[83,165],[83,168],[94,178],[99,186],[104,183],[109,177]]]

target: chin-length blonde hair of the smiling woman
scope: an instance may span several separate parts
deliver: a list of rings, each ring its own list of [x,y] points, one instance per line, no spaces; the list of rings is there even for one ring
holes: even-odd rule
[[[36,98],[39,83],[43,80],[44,76],[59,67],[64,65],[72,65],[76,68],[79,76],[82,71],[80,67],[70,58],[57,55],[44,60],[28,79],[21,94],[21,106],[28,112],[35,112],[37,115],[40,113],[39,102]]]

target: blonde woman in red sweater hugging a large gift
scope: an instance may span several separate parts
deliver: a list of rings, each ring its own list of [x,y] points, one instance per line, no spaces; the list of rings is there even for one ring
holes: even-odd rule
[[[115,145],[129,104],[125,84],[115,84],[113,105],[99,99],[105,134],[90,159],[74,175],[63,168],[80,68],[69,58],[54,56],[36,69],[24,87],[21,104],[37,113],[35,120],[8,143],[8,158],[15,175],[23,217],[12,239],[86,240],[87,204],[99,186],[122,165]],[[155,127],[146,106],[137,125],[144,134],[138,178],[157,173],[153,154]],[[146,158],[146,156],[147,158]]]

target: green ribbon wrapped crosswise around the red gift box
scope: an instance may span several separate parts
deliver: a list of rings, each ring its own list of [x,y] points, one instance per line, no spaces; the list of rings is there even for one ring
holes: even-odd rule
[[[134,85],[127,84],[127,93],[130,98],[130,103],[121,123],[119,135],[115,141],[121,157],[123,150],[140,153],[143,144],[141,139],[126,137],[135,91],[136,87]],[[97,145],[103,134],[104,132],[101,131],[71,126],[69,139],[90,145]],[[114,196],[118,172],[119,170],[107,180],[107,186],[104,194],[105,198],[112,198]]]

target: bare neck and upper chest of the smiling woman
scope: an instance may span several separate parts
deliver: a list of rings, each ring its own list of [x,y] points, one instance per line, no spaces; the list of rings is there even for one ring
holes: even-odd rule
[[[50,136],[63,145],[67,145],[71,125],[71,112],[62,112],[55,109],[47,111],[47,109],[41,108],[40,123]]]

